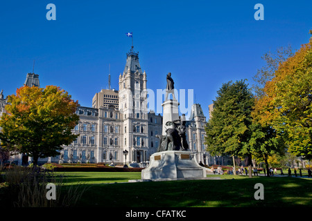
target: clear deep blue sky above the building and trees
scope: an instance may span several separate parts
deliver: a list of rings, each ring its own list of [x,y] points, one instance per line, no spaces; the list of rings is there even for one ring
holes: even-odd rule
[[[56,21],[46,19],[46,5],[56,6]],[[254,5],[264,6],[264,20],[254,19]],[[26,73],[40,84],[67,90],[82,106],[112,88],[133,32],[148,88],[166,87],[172,73],[177,89],[193,89],[208,116],[208,105],[227,81],[248,79],[263,66],[261,56],[309,41],[312,1],[3,1],[0,4],[0,90],[15,93]]]

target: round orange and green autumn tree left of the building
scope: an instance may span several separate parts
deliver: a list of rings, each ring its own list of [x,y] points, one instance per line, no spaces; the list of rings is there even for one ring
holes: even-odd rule
[[[74,102],[65,90],[57,86],[17,88],[16,95],[8,96],[6,113],[0,119],[1,146],[17,148],[33,157],[55,157],[62,145],[78,137],[71,129],[78,124],[78,101]]]

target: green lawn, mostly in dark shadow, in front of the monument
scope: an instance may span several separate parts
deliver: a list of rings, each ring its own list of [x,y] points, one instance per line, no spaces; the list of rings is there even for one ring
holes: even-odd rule
[[[312,206],[312,179],[307,178],[209,175],[223,180],[120,183],[139,180],[141,173],[64,175],[67,184],[89,186],[76,206]],[[264,200],[254,199],[257,183],[264,186]]]

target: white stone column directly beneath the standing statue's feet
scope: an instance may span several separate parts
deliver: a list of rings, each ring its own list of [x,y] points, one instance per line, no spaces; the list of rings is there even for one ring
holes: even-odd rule
[[[166,135],[166,128],[171,128],[171,126],[166,126],[166,122],[173,122],[179,119],[179,102],[168,99],[162,103],[162,110],[162,135]]]

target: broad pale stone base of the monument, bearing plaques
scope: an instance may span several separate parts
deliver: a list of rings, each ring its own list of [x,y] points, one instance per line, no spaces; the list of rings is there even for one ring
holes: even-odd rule
[[[150,164],[141,171],[141,180],[204,178],[206,169],[190,151],[163,151],[150,156]]]

